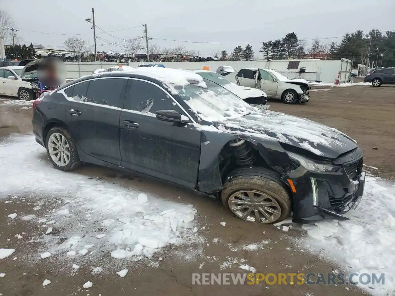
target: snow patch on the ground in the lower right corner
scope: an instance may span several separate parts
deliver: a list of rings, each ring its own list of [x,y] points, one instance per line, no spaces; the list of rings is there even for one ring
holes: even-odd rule
[[[395,293],[395,183],[367,176],[359,207],[349,221],[303,225],[308,243],[324,249],[349,272],[385,274],[385,284],[360,285],[375,295]],[[366,280],[366,278],[365,278]]]

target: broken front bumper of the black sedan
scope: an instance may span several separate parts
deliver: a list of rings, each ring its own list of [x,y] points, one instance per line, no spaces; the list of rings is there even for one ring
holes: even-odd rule
[[[324,218],[348,220],[343,216],[355,209],[361,201],[365,187],[365,172],[362,172],[362,157],[354,159],[355,174],[350,174],[350,164],[342,165],[335,173],[312,173],[303,168],[290,178],[295,186],[293,193],[293,217],[296,223],[315,223]],[[358,171],[357,171],[358,170]],[[357,172],[356,172],[357,171]],[[295,175],[295,172],[293,172]]]

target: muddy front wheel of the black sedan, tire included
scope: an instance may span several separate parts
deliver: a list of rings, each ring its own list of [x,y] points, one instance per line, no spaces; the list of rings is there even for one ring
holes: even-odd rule
[[[291,199],[285,185],[275,172],[261,167],[231,172],[221,199],[236,217],[252,223],[277,223],[291,211]]]

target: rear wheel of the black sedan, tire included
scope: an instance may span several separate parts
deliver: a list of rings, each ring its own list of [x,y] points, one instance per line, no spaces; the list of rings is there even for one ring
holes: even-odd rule
[[[77,146],[67,129],[53,127],[45,139],[49,160],[58,170],[75,170],[81,165]]]

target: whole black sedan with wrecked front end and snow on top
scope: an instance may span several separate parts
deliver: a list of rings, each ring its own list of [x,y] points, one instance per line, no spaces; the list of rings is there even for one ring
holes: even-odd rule
[[[59,170],[83,162],[214,195],[237,217],[313,223],[361,200],[363,152],[337,129],[259,111],[176,69],[82,77],[34,101],[36,141]]]

